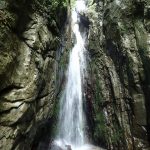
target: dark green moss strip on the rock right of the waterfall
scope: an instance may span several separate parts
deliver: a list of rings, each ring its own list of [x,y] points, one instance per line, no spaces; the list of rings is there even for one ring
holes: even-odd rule
[[[96,62],[94,61],[92,63],[92,70],[93,74],[95,76],[95,79],[99,79],[99,72],[97,70]],[[97,144],[105,144],[107,139],[107,126],[106,126],[106,120],[102,108],[102,104],[104,103],[104,99],[102,96],[102,87],[101,87],[101,81],[96,80],[94,82],[94,129],[93,129],[93,140]]]

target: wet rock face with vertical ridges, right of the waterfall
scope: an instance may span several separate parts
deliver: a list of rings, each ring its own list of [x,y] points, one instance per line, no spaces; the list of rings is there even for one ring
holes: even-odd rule
[[[93,139],[109,149],[149,149],[150,2],[89,1],[87,14]]]

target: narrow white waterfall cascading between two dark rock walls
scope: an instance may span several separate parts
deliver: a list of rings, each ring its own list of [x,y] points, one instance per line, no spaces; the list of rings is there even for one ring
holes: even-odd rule
[[[77,0],[72,11],[72,31],[76,43],[70,52],[67,81],[60,100],[58,136],[55,141],[62,149],[72,149],[85,144],[85,117],[83,112],[83,84],[86,73],[86,49],[84,36],[79,30],[78,13],[85,11],[83,0]]]

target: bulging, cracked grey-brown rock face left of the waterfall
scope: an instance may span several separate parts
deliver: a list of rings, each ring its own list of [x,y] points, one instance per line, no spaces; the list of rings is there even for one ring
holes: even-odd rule
[[[59,14],[48,18],[39,4],[0,1],[2,150],[31,149],[39,127],[53,113]]]

